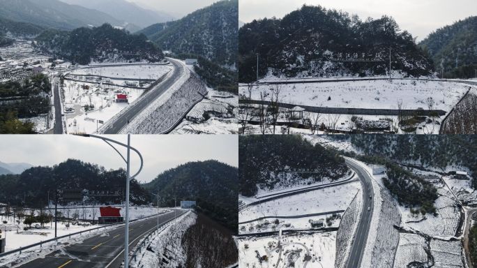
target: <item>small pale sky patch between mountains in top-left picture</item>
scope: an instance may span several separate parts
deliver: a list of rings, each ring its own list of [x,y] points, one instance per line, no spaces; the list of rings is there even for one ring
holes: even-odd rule
[[[127,0],[143,8],[160,10],[177,18],[188,15],[197,9],[210,6],[218,0]]]

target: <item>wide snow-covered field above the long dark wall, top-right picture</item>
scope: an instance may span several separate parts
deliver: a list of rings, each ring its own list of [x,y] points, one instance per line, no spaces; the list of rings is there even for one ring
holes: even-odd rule
[[[260,93],[270,93],[273,85],[261,84],[252,90],[252,99],[259,100]],[[245,94],[246,86],[239,91]],[[414,80],[374,80],[283,84],[282,103],[319,107],[345,107],[368,109],[427,109],[427,98],[434,98],[434,110],[449,111],[469,90],[468,85]],[[331,98],[328,101],[328,97]]]

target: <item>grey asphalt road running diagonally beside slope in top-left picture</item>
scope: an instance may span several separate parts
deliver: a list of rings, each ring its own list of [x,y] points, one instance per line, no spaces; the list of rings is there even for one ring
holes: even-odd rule
[[[109,128],[106,128],[103,131],[104,134],[119,133],[119,131],[121,131],[121,129],[123,129],[129,121],[136,117],[137,114],[142,112],[142,110],[144,110],[150,103],[152,103],[156,100],[156,98],[164,94],[167,89],[169,89],[177,80],[179,80],[184,67],[182,66],[182,64],[179,64],[179,62],[174,61],[174,59],[169,59],[169,62],[174,66],[172,75],[167,80],[161,82],[160,84],[158,84],[158,86],[151,89],[151,91],[148,92],[146,98],[142,98],[131,107],[128,107],[128,110],[126,110],[126,112],[121,114],[120,117],[116,118],[115,121],[112,121],[111,124],[109,124]]]

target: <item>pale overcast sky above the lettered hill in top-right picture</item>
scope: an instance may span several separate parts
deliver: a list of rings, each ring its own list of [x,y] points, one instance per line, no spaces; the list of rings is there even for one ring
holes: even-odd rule
[[[391,15],[402,30],[418,36],[418,40],[457,20],[477,15],[476,0],[240,0],[239,20],[283,17],[304,3],[357,14],[361,20]]]

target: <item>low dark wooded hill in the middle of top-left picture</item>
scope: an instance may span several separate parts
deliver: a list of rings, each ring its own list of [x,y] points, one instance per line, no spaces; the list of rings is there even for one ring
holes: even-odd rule
[[[162,51],[149,42],[144,34],[129,34],[109,24],[73,31],[48,30],[38,36],[36,41],[35,47],[41,52],[78,64],[89,64],[91,61],[156,62],[164,59]]]

